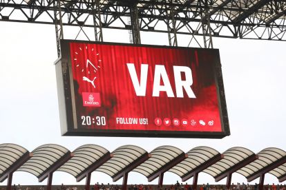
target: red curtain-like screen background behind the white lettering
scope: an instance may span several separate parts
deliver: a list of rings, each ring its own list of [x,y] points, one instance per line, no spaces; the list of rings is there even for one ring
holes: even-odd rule
[[[87,59],[95,65],[86,67]],[[222,131],[218,90],[213,67],[219,61],[218,52],[193,48],[135,47],[131,45],[106,45],[88,43],[70,43],[70,60],[73,71],[75,105],[78,129],[127,129],[156,131]],[[136,96],[126,63],[134,63],[137,76],[140,77],[140,65],[148,64],[146,96]],[[173,65],[188,66],[193,76],[193,90],[196,98],[169,98],[166,92],[152,97],[155,65],[164,65],[169,81],[175,93]],[[98,67],[99,66],[99,67]],[[95,79],[95,88],[83,81],[83,77]],[[184,77],[184,76],[183,76]],[[82,92],[100,94],[101,107],[83,106]],[[81,123],[82,116],[105,116],[106,125],[88,125]],[[148,125],[117,124],[117,117],[148,118]],[[164,124],[157,126],[155,118],[183,118],[195,120],[196,125],[177,126]],[[200,125],[204,120],[206,125]],[[213,120],[213,125],[208,121]]]

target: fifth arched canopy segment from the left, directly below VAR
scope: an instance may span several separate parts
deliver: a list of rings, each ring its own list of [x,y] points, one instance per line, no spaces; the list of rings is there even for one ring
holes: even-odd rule
[[[157,147],[150,154],[151,158],[133,169],[133,171],[146,176],[149,182],[159,177],[158,184],[161,186],[164,173],[188,157],[182,150],[172,146]]]

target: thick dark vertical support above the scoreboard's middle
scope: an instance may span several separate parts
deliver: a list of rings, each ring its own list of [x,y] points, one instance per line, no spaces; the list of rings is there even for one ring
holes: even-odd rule
[[[131,29],[133,43],[140,44],[140,23],[138,18],[137,1],[131,1],[130,4],[130,19],[131,19]]]

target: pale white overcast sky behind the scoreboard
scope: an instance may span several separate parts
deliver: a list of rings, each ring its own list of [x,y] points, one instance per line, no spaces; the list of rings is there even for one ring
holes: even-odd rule
[[[128,43],[128,32],[122,32],[124,36],[105,32],[106,41]],[[166,36],[162,36],[144,33],[142,43],[166,44]],[[189,36],[180,36],[179,45],[185,45],[189,39]],[[109,151],[128,144],[138,145],[146,151],[160,145],[173,145],[185,152],[201,145],[220,152],[236,146],[247,147],[255,153],[266,147],[286,150],[286,43],[241,39],[213,41],[220,49],[231,136],[221,140],[66,137],[60,135],[59,127],[53,64],[57,59],[54,26],[0,22],[0,143],[15,143],[29,151],[46,143],[63,145],[70,151],[88,143],[101,145]],[[180,181],[180,178],[175,174],[165,173],[165,184],[176,180]],[[91,183],[97,181],[112,183],[106,174],[93,172]],[[232,181],[247,182],[238,173],[233,174]],[[70,174],[55,172],[53,184],[61,182],[76,184]],[[139,182],[148,183],[144,176],[131,172],[128,183]],[[214,183],[214,180],[201,173],[198,183],[206,182]],[[267,174],[265,183],[270,182],[277,183],[278,180]],[[38,184],[35,176],[23,172],[15,172],[12,183]],[[158,183],[158,179],[152,183]],[[225,180],[219,183],[225,184]],[[6,181],[0,183],[4,184]]]

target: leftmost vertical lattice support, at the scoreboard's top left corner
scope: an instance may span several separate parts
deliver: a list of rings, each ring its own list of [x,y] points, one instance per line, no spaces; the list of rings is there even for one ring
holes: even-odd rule
[[[57,40],[57,56],[61,56],[61,43],[60,40],[64,39],[63,23],[61,18],[61,2],[60,0],[54,1],[54,22],[55,22],[55,32]],[[59,19],[57,18],[59,17]]]

